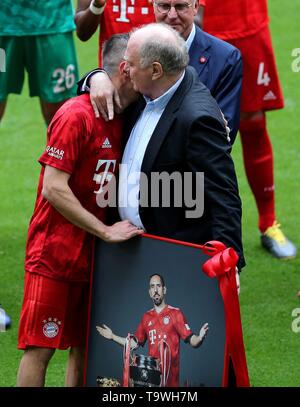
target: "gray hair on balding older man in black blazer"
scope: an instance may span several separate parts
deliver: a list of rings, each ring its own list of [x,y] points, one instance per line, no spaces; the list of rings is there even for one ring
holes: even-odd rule
[[[151,24],[152,25],[152,24]],[[157,23],[153,26],[157,27]],[[175,75],[183,71],[189,63],[189,54],[183,38],[166,24],[160,24],[170,30],[173,41],[153,37],[145,41],[140,47],[140,66],[147,68],[153,62],[159,62],[167,75]]]

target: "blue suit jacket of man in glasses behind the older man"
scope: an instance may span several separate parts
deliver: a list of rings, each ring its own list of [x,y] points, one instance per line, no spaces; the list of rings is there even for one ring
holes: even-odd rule
[[[242,90],[240,51],[196,26],[196,35],[189,55],[189,64],[196,69],[199,79],[208,87],[228,120],[233,144],[240,122]]]

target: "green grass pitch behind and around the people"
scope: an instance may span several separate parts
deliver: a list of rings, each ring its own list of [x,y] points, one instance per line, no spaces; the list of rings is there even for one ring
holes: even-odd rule
[[[284,13],[283,13],[284,10]],[[268,113],[275,156],[277,218],[300,248],[299,117],[300,72],[292,71],[292,50],[299,48],[297,16],[300,0],[282,9],[269,2],[273,45],[284,90],[284,110]],[[97,38],[77,41],[81,73],[97,64]],[[251,90],[249,90],[251,91]],[[17,351],[18,318],[23,292],[26,232],[35,201],[37,158],[44,149],[46,128],[38,100],[11,95],[0,127],[0,304],[12,317],[12,328],[0,333],[0,386],[14,386],[21,357]],[[249,190],[239,141],[233,152],[243,201],[243,235],[247,267],[241,274],[241,313],[252,386],[300,386],[299,339],[292,330],[292,311],[300,308],[300,254],[281,262],[261,247],[257,211]],[[300,312],[300,310],[299,310]],[[67,352],[50,363],[47,386],[64,385]]]

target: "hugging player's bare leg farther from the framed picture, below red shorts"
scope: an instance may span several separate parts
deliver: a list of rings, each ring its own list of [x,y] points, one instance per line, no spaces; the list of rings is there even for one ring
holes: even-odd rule
[[[48,363],[55,349],[29,347],[24,351],[18,376],[18,387],[43,387]]]

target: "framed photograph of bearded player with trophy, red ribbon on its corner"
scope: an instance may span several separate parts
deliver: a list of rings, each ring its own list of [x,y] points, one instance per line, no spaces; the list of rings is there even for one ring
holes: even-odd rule
[[[220,387],[230,366],[249,384],[239,309],[228,312],[239,308],[235,276],[211,278],[209,260],[201,246],[150,235],[97,241],[87,386]]]

